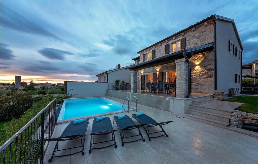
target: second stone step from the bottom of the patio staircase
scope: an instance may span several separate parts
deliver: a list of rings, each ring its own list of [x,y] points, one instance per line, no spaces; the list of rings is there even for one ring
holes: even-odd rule
[[[229,119],[231,116],[227,116],[224,114],[218,114],[218,113],[212,113],[212,112],[206,112],[196,109],[187,109],[187,113],[195,114],[197,116],[207,117],[219,121],[229,122]]]

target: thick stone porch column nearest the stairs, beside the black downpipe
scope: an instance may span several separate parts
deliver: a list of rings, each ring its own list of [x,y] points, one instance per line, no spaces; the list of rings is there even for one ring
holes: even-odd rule
[[[186,59],[178,59],[176,62],[176,97],[187,95],[187,62]]]

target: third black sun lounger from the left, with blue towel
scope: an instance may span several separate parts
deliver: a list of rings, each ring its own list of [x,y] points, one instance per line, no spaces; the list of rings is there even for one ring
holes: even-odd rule
[[[135,142],[135,141],[139,141],[139,140],[142,140],[143,142],[145,141],[142,137],[142,133],[141,133],[139,128],[146,125],[146,124],[136,125],[135,122],[127,115],[125,115],[125,117],[122,118],[122,119],[118,119],[118,116],[114,116],[113,124],[114,124],[114,121],[116,121],[118,130],[119,130],[119,133],[120,133],[122,146],[124,146],[124,143],[128,143],[128,142]],[[123,130],[132,130],[132,129],[135,129],[135,128],[138,129],[139,135],[124,137],[124,131]],[[122,133],[123,133],[123,135],[122,135]],[[127,142],[124,142],[124,140],[123,140],[124,138],[130,138],[130,137],[135,137],[135,136],[141,136],[141,138],[138,139],[138,140],[127,141]]]

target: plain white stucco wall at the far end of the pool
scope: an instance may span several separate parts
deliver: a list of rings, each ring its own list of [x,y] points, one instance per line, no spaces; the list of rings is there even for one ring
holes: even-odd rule
[[[67,81],[67,94],[72,98],[106,96],[108,83]]]

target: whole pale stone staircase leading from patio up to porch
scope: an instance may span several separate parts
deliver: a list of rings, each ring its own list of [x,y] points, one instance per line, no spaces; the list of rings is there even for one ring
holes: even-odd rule
[[[206,124],[226,128],[233,109],[226,101],[216,98],[194,100],[184,117]]]

